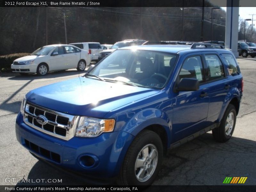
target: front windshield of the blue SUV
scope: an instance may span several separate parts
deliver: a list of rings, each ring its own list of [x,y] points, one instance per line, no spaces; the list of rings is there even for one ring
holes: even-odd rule
[[[88,74],[88,78],[160,89],[176,63],[176,54],[147,50],[116,50]],[[100,77],[100,78],[99,78]]]

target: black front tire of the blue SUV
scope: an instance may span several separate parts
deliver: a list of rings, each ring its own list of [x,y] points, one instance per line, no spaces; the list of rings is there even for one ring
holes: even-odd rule
[[[149,167],[148,166],[146,167],[147,169],[149,168],[152,169],[152,173],[147,180],[141,182],[136,178],[135,172],[139,172],[142,169],[141,168],[142,166],[135,170],[135,165],[136,165],[137,158],[139,158],[140,155],[142,155],[142,153],[140,152],[142,152],[142,149],[147,146],[148,146],[148,154],[149,154],[148,157],[150,156],[150,154],[154,153],[158,155],[158,159],[157,160],[155,158],[153,158],[152,160],[148,159],[146,160],[146,162],[144,162],[143,167],[146,166],[145,164],[147,165],[150,164],[148,165]],[[153,147],[153,149],[151,149],[150,147]],[[117,179],[117,183],[119,185],[150,185],[156,179],[157,174],[161,168],[162,161],[163,161],[163,144],[159,135],[149,130],[142,131],[132,141],[132,144],[125,155],[124,162]],[[156,162],[155,166],[153,165],[154,162]],[[148,171],[146,172],[148,173]]]

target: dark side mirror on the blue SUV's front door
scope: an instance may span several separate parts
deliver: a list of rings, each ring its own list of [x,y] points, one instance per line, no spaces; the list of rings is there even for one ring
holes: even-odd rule
[[[176,91],[197,91],[199,90],[199,81],[197,79],[192,78],[183,78]]]

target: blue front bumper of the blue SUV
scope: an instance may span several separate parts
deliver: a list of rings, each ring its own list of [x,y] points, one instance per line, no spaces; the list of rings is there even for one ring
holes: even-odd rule
[[[118,175],[133,140],[131,134],[118,131],[96,138],[73,137],[65,141],[28,126],[20,113],[16,119],[16,137],[23,147],[48,163],[102,179]],[[97,162],[93,166],[82,166],[81,157],[86,155],[95,157]]]

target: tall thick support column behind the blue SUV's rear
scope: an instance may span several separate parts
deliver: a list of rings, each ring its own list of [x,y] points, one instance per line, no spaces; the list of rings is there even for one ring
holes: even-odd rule
[[[225,48],[232,49],[238,58],[239,0],[227,0]]]

